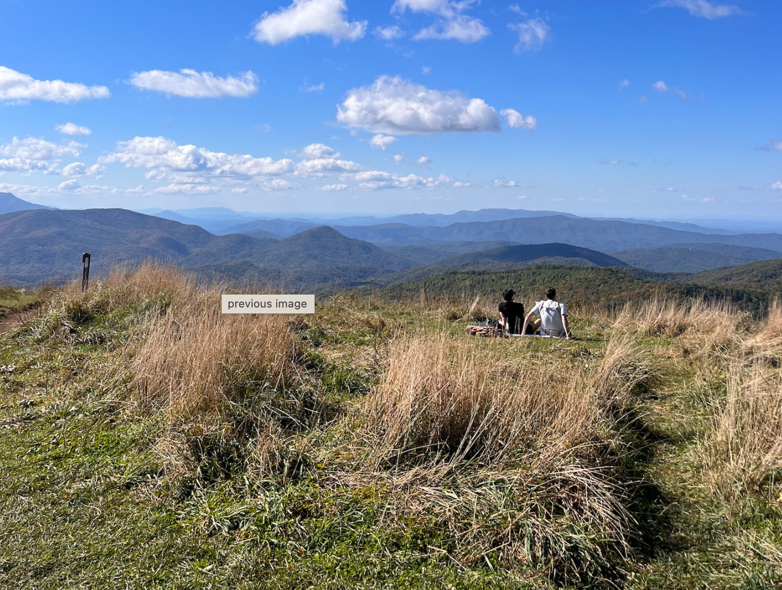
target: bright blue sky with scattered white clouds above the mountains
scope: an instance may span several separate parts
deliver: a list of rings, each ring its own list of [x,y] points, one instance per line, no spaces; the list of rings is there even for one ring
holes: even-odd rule
[[[782,2],[0,0],[0,191],[782,217]]]

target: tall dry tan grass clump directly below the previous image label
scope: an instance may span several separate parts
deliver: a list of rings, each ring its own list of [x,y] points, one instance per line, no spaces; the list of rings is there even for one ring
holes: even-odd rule
[[[146,403],[174,416],[210,416],[253,383],[278,388],[294,374],[284,315],[223,314],[220,294],[189,293],[150,329],[134,359]]]

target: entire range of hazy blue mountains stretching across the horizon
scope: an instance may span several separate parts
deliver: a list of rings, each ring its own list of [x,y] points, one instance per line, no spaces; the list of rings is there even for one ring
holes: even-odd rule
[[[539,264],[632,265],[694,273],[782,258],[780,234],[709,234],[699,226],[698,231],[684,231],[662,222],[593,220],[524,209],[421,213],[384,220],[388,223],[328,227],[303,219],[252,219],[251,213],[223,208],[192,210],[237,230],[219,234],[188,223],[192,218],[181,210],[155,209],[150,216],[126,209],[48,209],[10,193],[0,193],[0,206],[23,208],[0,214],[0,279],[16,284],[72,278],[81,273],[81,252],[91,252],[93,272],[152,258],[214,279],[300,281],[317,288],[396,284],[454,270],[518,270]],[[511,215],[519,216],[502,218]],[[468,220],[472,218],[484,220]],[[453,222],[458,219],[468,221]],[[377,218],[339,221],[361,220]],[[691,228],[689,223],[669,225]]]

